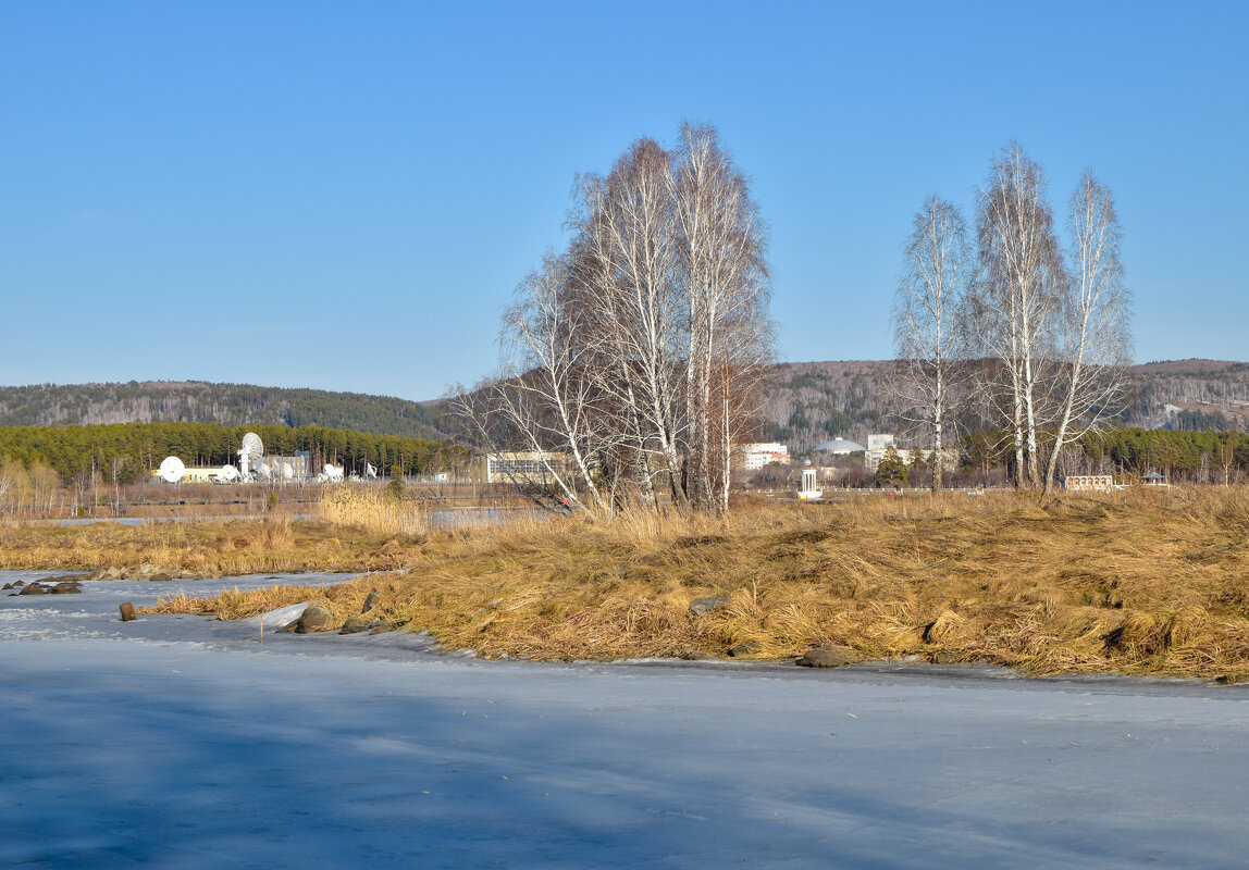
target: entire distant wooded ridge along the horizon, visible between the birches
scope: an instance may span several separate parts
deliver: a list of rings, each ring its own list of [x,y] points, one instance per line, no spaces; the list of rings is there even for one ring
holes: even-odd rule
[[[781,362],[759,437],[809,451],[836,436],[863,443],[892,432],[884,376],[889,359]],[[1123,426],[1249,432],[1249,363],[1162,359],[1132,366]],[[207,381],[0,387],[0,426],[187,422],[323,426],[372,434],[448,439],[442,402]]]

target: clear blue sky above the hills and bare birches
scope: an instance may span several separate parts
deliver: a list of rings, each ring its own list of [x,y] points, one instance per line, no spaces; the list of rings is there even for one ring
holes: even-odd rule
[[[1245,359],[1247,39],[1247,2],[0,0],[0,383],[437,397],[575,175],[687,117],[754,180],[784,359],[891,356],[912,215],[1010,139],[1055,208],[1118,197],[1138,361]]]

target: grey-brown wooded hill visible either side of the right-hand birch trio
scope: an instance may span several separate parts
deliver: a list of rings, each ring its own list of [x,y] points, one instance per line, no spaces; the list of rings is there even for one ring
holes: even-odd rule
[[[889,361],[792,362],[774,368],[763,437],[803,453],[836,436],[864,443],[897,432],[889,419]],[[1173,359],[1133,366],[1122,424],[1150,429],[1249,432],[1249,363]]]

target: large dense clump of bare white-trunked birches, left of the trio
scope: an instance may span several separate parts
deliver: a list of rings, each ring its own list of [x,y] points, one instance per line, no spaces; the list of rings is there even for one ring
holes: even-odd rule
[[[552,477],[598,509],[629,479],[656,507],[662,489],[681,511],[727,509],[762,404],[766,228],[716,130],[681,136],[671,152],[639,139],[578,180],[567,252],[505,313],[500,378],[455,402],[480,441],[566,453],[573,473]]]

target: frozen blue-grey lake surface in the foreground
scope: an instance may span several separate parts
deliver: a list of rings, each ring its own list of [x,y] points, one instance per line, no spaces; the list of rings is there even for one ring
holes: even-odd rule
[[[0,583],[45,577],[0,572]],[[1240,868],[1249,690],[438,655],[0,597],[0,865]]]

